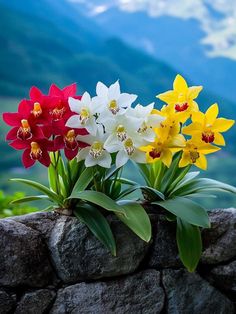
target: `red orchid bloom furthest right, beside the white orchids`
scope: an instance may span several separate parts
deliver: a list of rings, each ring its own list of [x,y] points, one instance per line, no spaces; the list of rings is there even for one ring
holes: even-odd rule
[[[87,134],[88,132],[85,129],[65,127],[62,134],[55,138],[55,147],[64,149],[66,158],[72,160],[78,154],[80,148],[88,146],[87,143],[80,141],[77,136]]]

